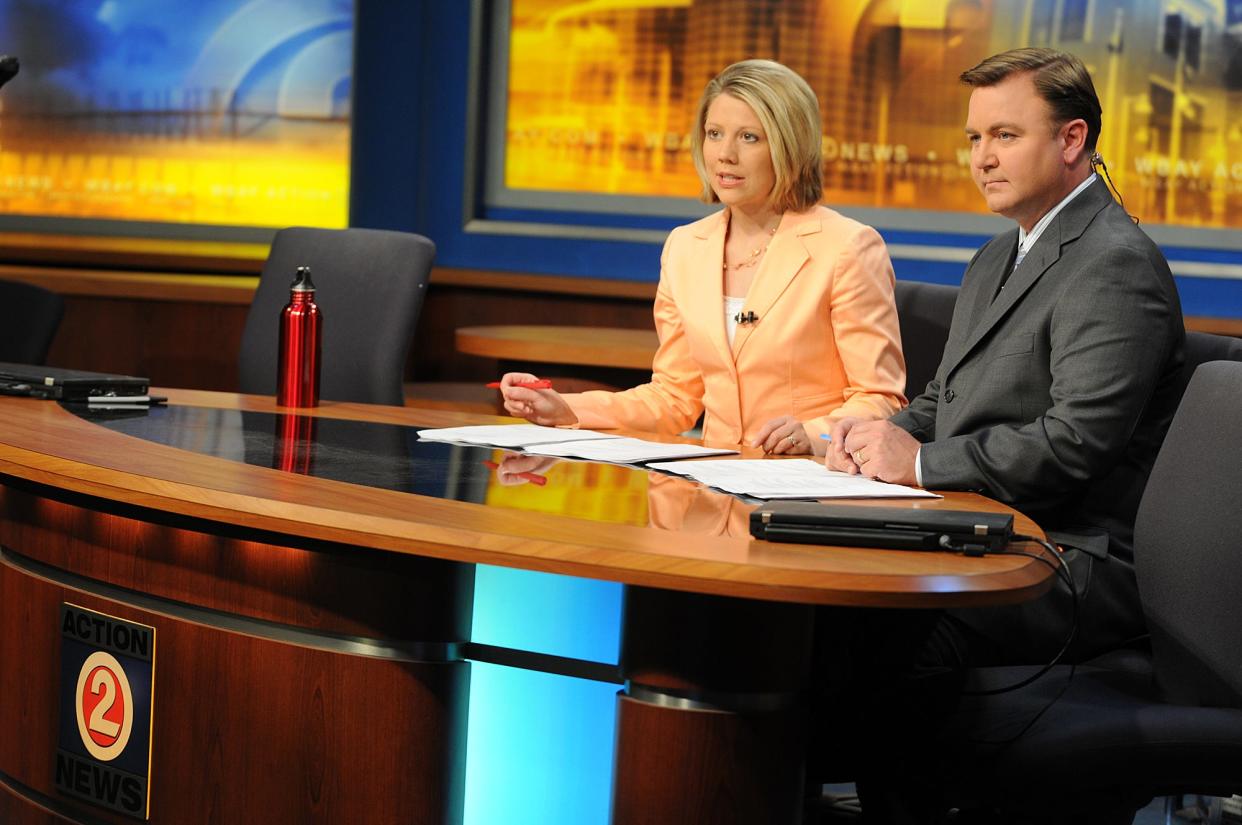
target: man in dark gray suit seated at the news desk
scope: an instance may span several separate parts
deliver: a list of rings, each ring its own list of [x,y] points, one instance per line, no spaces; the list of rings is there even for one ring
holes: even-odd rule
[[[1179,400],[1181,306],[1160,250],[1095,175],[1100,107],[1083,63],[1018,48],[961,81],[975,183],[1017,227],[971,260],[923,394],[887,421],[841,421],[827,463],[982,492],[1078,548],[1064,558],[1084,657],[1144,632],[1130,545]],[[1030,605],[953,611],[932,659],[1047,661],[1069,620],[1059,584]]]

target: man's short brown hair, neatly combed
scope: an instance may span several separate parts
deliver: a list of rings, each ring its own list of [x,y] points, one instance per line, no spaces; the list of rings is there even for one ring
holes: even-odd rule
[[[1083,62],[1056,48],[1011,48],[984,58],[961,73],[961,82],[979,88],[996,86],[1012,75],[1031,73],[1035,91],[1052,108],[1052,122],[1061,128],[1071,121],[1087,122],[1087,152],[1099,139],[1100,108],[1095,84]]]

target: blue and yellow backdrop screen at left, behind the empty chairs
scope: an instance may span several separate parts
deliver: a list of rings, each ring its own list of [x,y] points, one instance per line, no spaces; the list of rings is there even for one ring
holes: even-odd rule
[[[0,226],[344,226],[353,6],[0,0]]]

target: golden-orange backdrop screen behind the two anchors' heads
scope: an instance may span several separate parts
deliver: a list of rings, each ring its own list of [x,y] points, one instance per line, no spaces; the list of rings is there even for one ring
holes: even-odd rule
[[[696,214],[689,129],[745,57],[801,73],[823,117],[825,201],[986,212],[958,75],[1015,46],[1073,52],[1099,150],[1144,225],[1242,226],[1242,2],[1191,0],[505,0],[488,203]],[[969,219],[968,219],[969,220]],[[877,222],[883,224],[882,219]],[[1223,232],[1221,235],[1225,235]]]

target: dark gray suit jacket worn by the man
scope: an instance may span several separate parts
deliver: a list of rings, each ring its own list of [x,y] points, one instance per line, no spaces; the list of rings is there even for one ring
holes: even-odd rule
[[[1179,401],[1177,291],[1102,180],[1066,205],[997,294],[1016,251],[1015,229],[975,255],[936,375],[892,421],[924,442],[927,487],[980,491],[1046,531],[1107,539],[1097,547],[1117,559],[1103,567],[1118,584],[1099,606],[1125,614],[1125,627],[1099,636],[1124,636],[1138,618],[1134,518]]]

